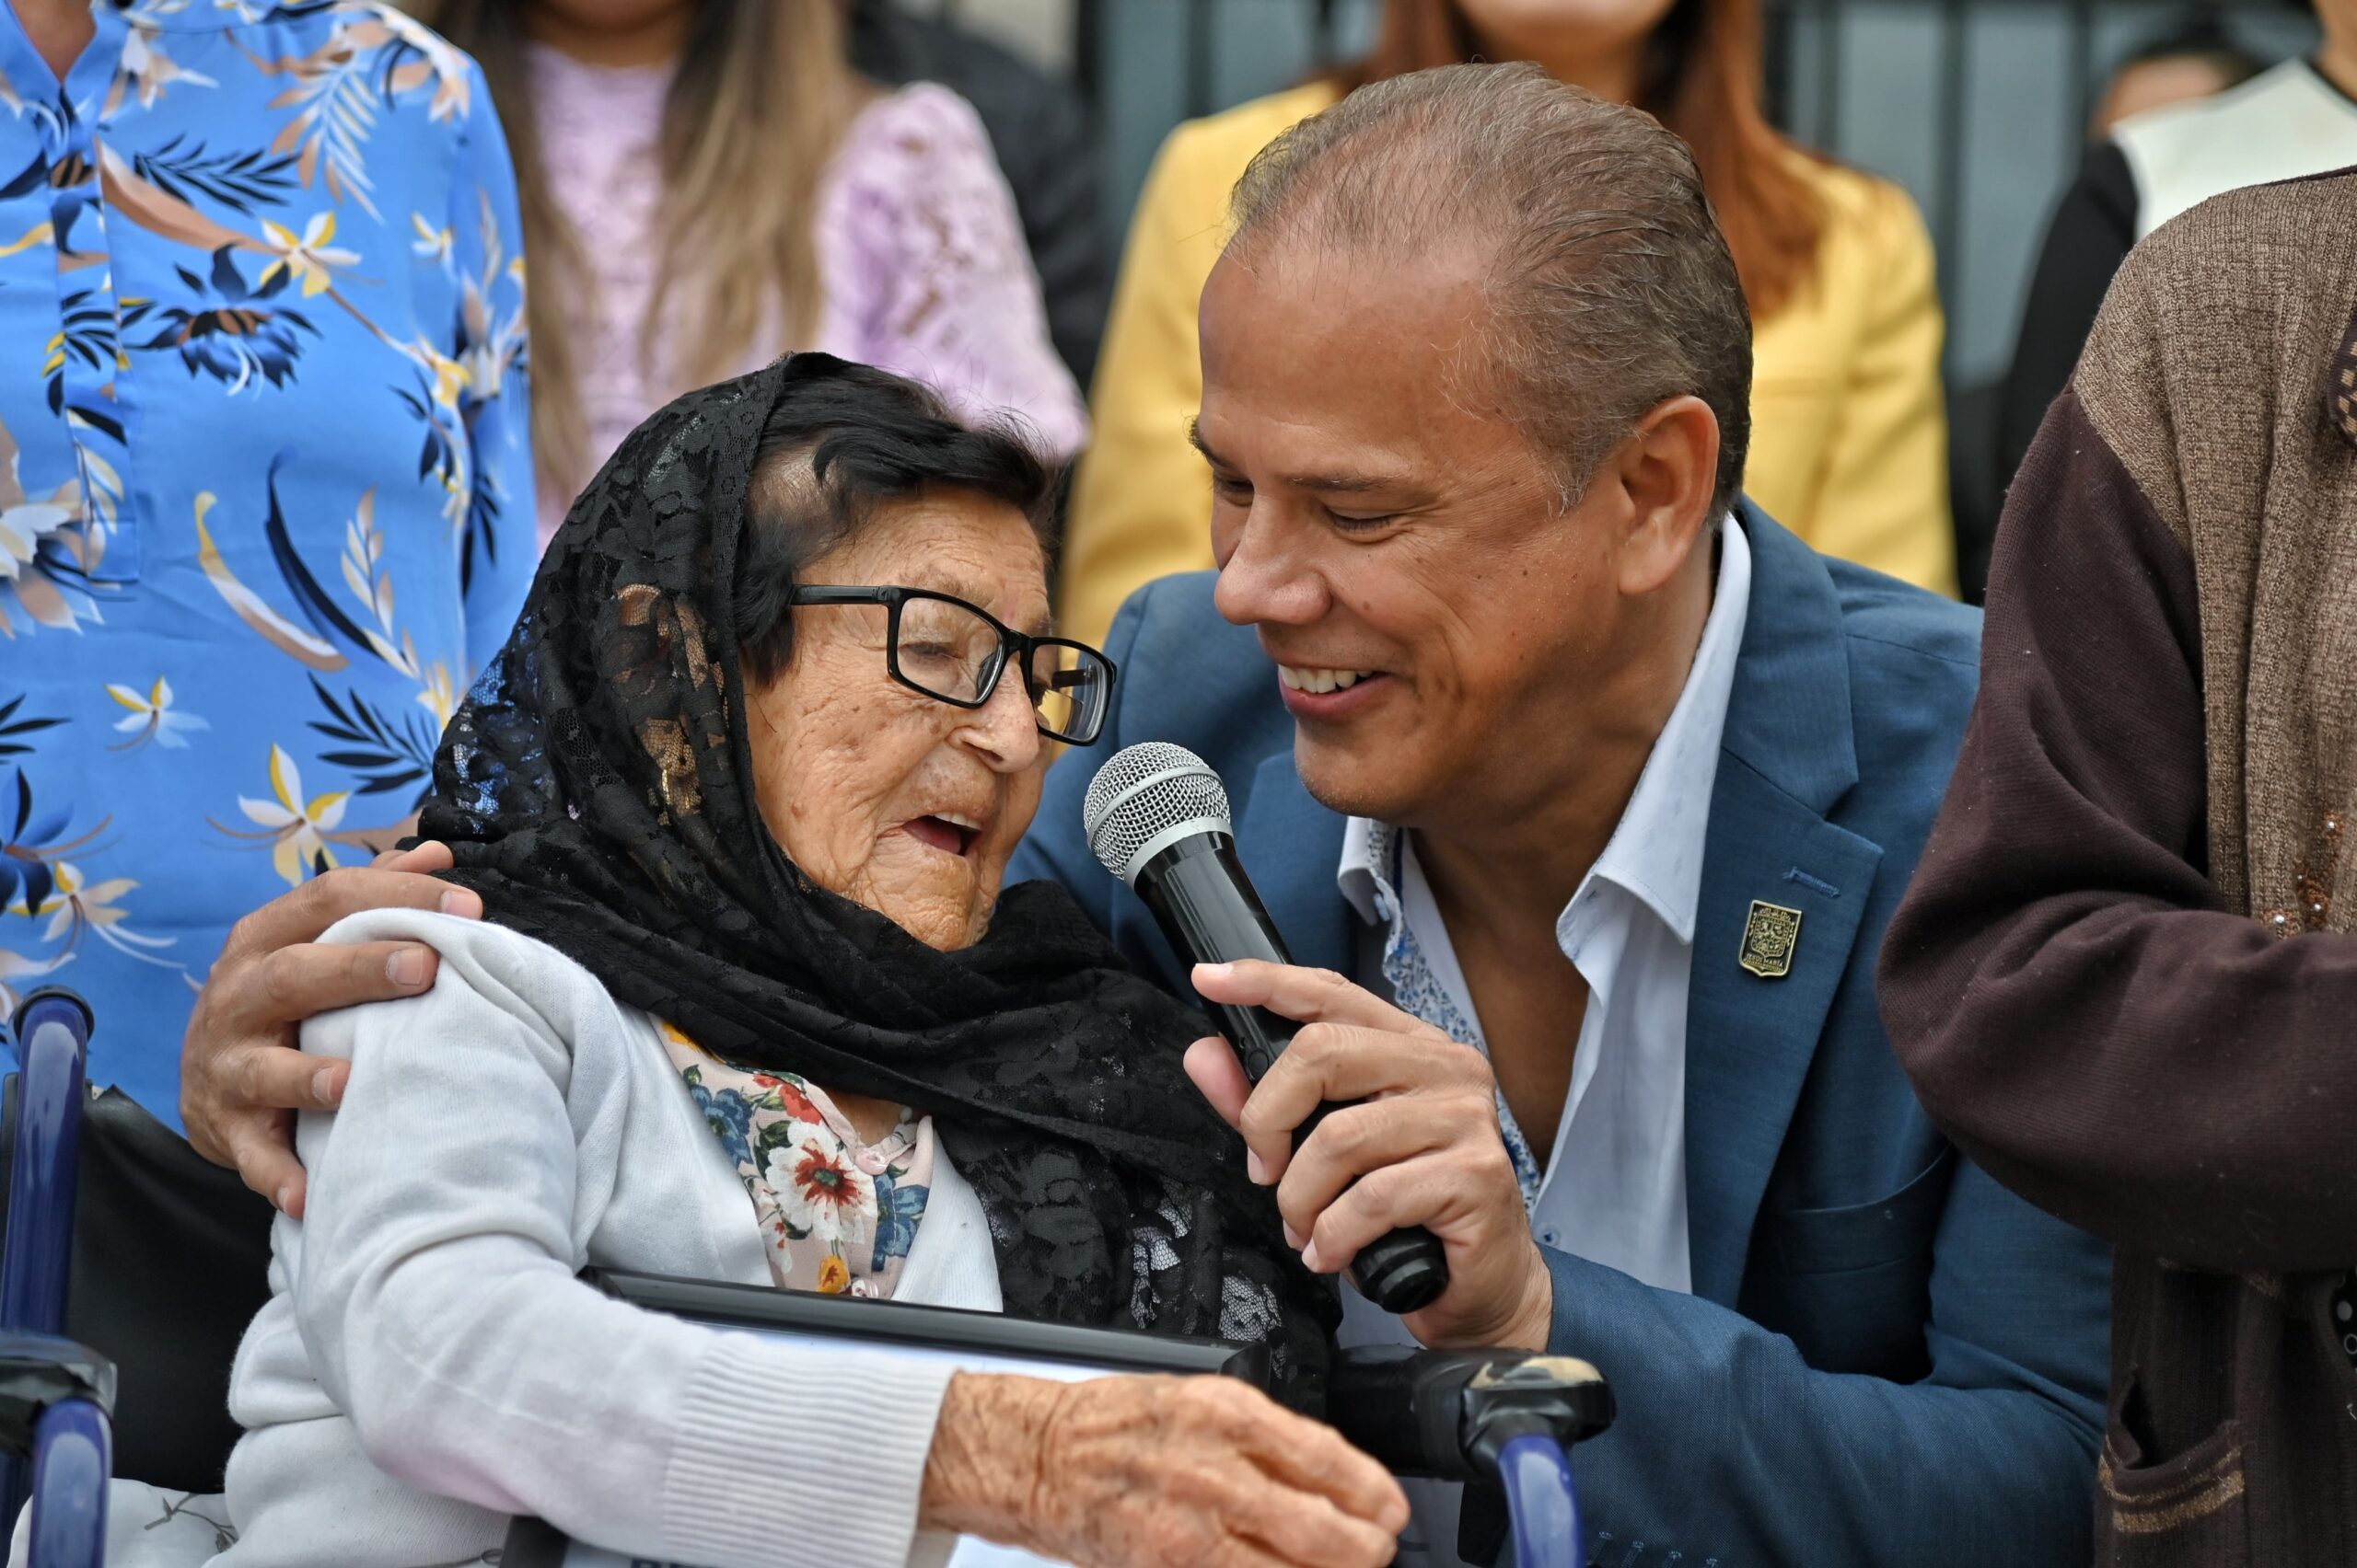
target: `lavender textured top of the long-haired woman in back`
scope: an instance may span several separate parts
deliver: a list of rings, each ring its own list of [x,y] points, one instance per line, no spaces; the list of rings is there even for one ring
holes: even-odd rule
[[[540,158],[594,283],[566,301],[566,327],[580,344],[599,461],[691,388],[684,372],[639,351],[662,261],[655,144],[669,82],[669,66],[618,71],[533,49]],[[926,381],[959,412],[1014,412],[1056,457],[1082,447],[1089,417],[1049,344],[1014,193],[983,122],[955,92],[903,87],[851,122],[818,195],[818,266],[827,292],[818,337],[790,344],[773,323],[731,372],[787,348],[823,348]],[[655,341],[660,358],[665,339]],[[540,487],[542,546],[570,504],[561,487]]]

